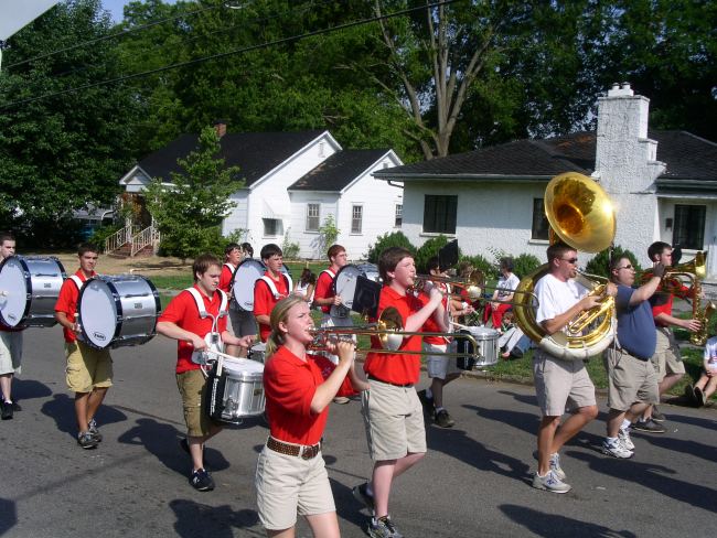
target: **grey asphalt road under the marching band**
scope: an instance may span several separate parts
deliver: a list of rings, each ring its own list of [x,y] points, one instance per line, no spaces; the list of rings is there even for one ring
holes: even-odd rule
[[[113,352],[115,387],[98,415],[97,450],[75,441],[57,327],[25,332],[23,410],[0,423],[0,535],[4,537],[265,536],[255,510],[260,422],[222,432],[206,463],[217,487],[195,492],[173,375],[174,344],[160,336]],[[599,452],[604,412],[565,448],[574,489],[531,487],[537,408],[532,387],[460,379],[450,430],[428,428],[427,456],[395,483],[392,516],[410,538],[714,536],[717,410],[663,406],[664,434],[633,434],[632,460]],[[600,400],[606,410],[604,399]],[[332,406],[324,456],[342,536],[365,536],[351,487],[371,471],[360,405]],[[298,536],[311,536],[299,524]]]

